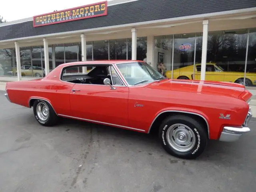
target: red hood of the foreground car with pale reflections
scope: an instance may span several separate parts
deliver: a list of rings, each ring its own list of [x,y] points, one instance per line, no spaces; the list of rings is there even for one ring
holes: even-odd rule
[[[194,92],[218,96],[238,98],[245,91],[241,84],[230,82],[200,81],[200,80],[162,80],[148,84],[146,88],[158,90],[173,90],[180,92]]]

